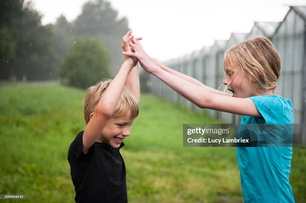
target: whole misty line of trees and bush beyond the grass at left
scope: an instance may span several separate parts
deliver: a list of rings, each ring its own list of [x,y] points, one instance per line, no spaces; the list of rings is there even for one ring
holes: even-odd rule
[[[31,2],[2,0],[0,79],[50,80],[86,88],[120,68],[128,20],[105,0],[88,1],[72,22],[42,25]]]

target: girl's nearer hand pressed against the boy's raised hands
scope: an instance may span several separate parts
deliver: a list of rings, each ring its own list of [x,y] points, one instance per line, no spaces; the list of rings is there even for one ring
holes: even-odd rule
[[[136,38],[132,38],[129,46],[132,48],[133,52],[122,52],[125,56],[136,58],[141,64],[141,67],[143,67],[144,70],[149,73],[152,73],[155,68],[158,68],[158,66],[151,61],[150,57],[144,51],[140,42],[138,42]]]

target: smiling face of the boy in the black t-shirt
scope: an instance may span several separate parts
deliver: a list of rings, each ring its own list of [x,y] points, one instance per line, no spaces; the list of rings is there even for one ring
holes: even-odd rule
[[[111,117],[97,141],[106,143],[113,148],[120,147],[122,140],[130,135],[131,125],[134,120],[135,118],[130,118],[129,114],[123,117]]]

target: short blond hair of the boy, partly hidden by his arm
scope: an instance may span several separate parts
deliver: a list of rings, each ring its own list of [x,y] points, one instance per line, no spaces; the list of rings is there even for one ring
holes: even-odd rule
[[[88,124],[90,114],[95,112],[101,96],[111,82],[111,79],[103,80],[87,89],[83,100],[84,118],[86,124]],[[132,95],[129,89],[124,87],[112,116],[121,117],[130,114],[130,118],[136,118],[138,113],[139,108],[135,97]]]

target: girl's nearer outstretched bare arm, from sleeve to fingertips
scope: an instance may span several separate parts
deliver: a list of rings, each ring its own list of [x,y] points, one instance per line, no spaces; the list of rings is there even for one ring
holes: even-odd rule
[[[155,75],[186,99],[200,108],[208,108],[233,114],[261,117],[255,104],[249,98],[236,98],[208,92],[207,90],[173,75],[154,64],[142,49],[141,44],[132,39],[130,46],[135,53],[123,52],[124,55],[135,57],[145,71]]]

